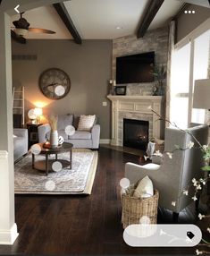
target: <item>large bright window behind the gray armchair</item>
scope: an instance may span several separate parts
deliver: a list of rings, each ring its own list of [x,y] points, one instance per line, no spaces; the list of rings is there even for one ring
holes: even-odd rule
[[[194,82],[206,79],[209,66],[210,30],[191,39],[172,54],[170,121],[182,129],[189,123],[205,123],[205,109],[192,108]]]

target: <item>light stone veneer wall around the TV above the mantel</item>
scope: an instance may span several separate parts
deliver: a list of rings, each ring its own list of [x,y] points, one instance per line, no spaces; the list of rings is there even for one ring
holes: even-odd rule
[[[167,66],[168,27],[147,31],[143,38],[127,36],[113,39],[113,79],[116,77],[116,57],[155,51],[155,64]],[[151,83],[127,84],[127,95],[152,95]]]

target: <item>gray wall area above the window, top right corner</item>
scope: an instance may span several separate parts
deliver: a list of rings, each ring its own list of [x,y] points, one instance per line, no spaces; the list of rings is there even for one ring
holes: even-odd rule
[[[210,8],[190,4],[186,10],[195,11],[195,14],[181,13],[177,20],[176,42],[186,37],[195,30],[202,22],[210,18]]]

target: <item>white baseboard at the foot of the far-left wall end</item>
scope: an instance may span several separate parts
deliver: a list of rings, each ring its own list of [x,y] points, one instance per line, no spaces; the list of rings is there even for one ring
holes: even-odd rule
[[[11,229],[1,230],[0,229],[0,244],[11,245],[18,237],[18,230],[16,223],[13,224]]]

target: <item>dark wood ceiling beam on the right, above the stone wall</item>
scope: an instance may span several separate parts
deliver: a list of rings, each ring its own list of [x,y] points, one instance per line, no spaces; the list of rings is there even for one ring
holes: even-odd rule
[[[150,0],[150,4],[147,7],[147,11],[144,14],[142,21],[139,24],[137,30],[137,37],[143,38],[151,22],[154,20],[156,13],[159,11],[164,0]]]

